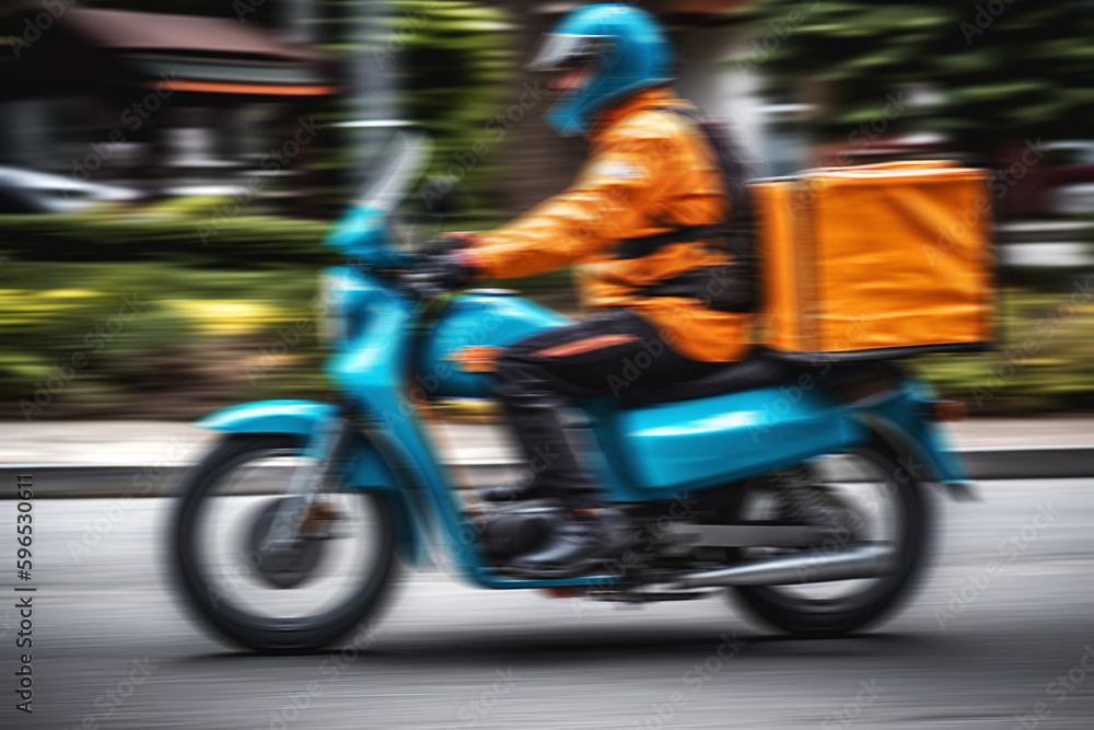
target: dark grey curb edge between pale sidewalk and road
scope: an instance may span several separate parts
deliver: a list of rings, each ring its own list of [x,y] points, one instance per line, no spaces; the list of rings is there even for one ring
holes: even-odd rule
[[[990,447],[963,449],[959,453],[970,478],[977,480],[1094,477],[1094,447]],[[515,464],[476,461],[458,466],[462,468],[453,471],[457,475],[462,472],[472,486],[478,487],[503,480]],[[172,493],[187,467],[187,464],[0,464],[0,484],[14,485],[19,475],[30,475],[35,496],[46,499],[164,497]],[[0,499],[14,496],[13,489],[0,489]]]

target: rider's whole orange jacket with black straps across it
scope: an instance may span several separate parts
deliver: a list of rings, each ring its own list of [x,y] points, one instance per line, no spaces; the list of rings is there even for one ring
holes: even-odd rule
[[[586,311],[626,306],[685,357],[741,359],[748,347],[749,315],[710,310],[693,298],[642,296],[643,287],[724,264],[728,254],[687,242],[641,258],[614,257],[619,240],[717,223],[731,204],[706,136],[683,115],[651,108],[683,104],[668,89],[649,89],[604,113],[589,135],[591,154],[570,187],[482,233],[467,251],[478,275],[523,277],[572,264]]]

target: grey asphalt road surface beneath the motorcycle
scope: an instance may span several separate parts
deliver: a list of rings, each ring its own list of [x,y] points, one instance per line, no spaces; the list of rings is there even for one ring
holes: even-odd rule
[[[166,500],[120,515],[39,500],[33,715],[14,708],[26,650],[4,500],[0,728],[1092,728],[1094,480],[981,487],[982,503],[935,500],[921,590],[859,636],[785,638],[720,600],[620,609],[418,573],[337,661],[201,634],[165,588]]]

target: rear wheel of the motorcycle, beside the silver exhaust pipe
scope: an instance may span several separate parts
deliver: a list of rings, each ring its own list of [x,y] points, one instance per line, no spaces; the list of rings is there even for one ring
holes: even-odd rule
[[[788,503],[788,480],[798,480],[789,485],[795,502]],[[892,549],[887,570],[856,580],[737,587],[731,589],[733,594],[753,615],[799,636],[835,636],[877,622],[907,595],[924,561],[930,517],[922,484],[878,441],[755,480],[737,495],[735,518],[783,521],[788,509],[801,515],[803,499],[812,500],[814,513],[827,511],[837,528],[831,537],[805,553],[823,560],[856,544],[887,544]],[[742,548],[737,557],[754,559],[770,553]]]

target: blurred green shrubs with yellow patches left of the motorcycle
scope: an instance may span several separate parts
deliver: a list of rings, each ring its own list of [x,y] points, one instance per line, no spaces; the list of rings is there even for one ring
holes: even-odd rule
[[[238,401],[322,396],[316,271],[5,260],[0,416],[188,418]],[[279,340],[293,341],[280,352]]]

